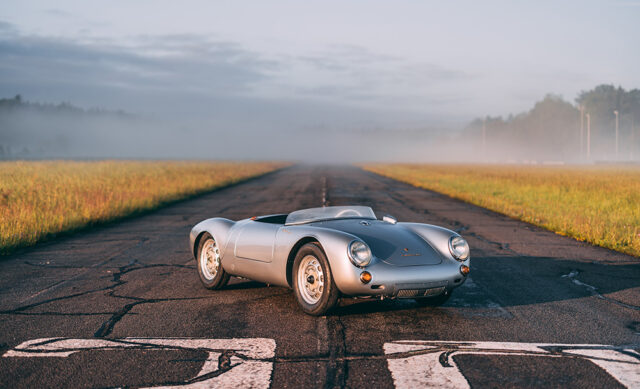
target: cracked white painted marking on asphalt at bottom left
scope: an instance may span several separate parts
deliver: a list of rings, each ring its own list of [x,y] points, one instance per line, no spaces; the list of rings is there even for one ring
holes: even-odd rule
[[[43,338],[21,343],[7,351],[4,358],[58,357],[66,358],[73,353],[87,350],[118,350],[127,348],[145,349],[190,349],[209,353],[200,372],[187,380],[184,388],[268,388],[271,384],[276,342],[266,338],[245,339],[192,339],[192,338],[124,338],[124,339],[66,339]],[[221,374],[206,378],[218,371],[221,351],[230,351],[232,368]],[[200,380],[200,378],[202,379]],[[194,380],[197,380],[194,382]],[[189,382],[191,381],[191,382]]]

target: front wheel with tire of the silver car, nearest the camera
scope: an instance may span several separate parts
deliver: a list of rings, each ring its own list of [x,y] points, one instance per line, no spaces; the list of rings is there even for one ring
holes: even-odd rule
[[[309,282],[313,279],[313,282]],[[293,292],[302,310],[313,316],[324,315],[338,302],[339,291],[320,245],[307,243],[293,262]]]

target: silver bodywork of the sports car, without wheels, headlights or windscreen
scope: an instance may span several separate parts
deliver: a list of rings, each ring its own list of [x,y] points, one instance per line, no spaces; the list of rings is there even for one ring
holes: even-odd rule
[[[444,287],[447,292],[466,277],[449,251],[449,239],[457,233],[430,224],[389,223],[367,218],[324,220],[285,225],[262,222],[278,215],[244,219],[212,218],[191,230],[194,255],[200,237],[208,232],[218,242],[224,270],[237,277],[292,287],[291,269],[297,249],[316,241],[324,250],[336,286],[344,295],[396,297],[402,289]],[[284,217],[285,215],[281,215]],[[365,268],[356,267],[347,254],[349,244],[362,240],[373,253]],[[360,274],[368,271],[371,282]]]

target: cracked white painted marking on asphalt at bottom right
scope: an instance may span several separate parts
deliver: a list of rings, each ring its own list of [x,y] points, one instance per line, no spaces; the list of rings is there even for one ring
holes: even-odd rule
[[[640,387],[640,354],[597,344],[397,341],[384,344],[396,388],[469,388],[452,356],[524,355],[562,358],[579,355],[628,388]],[[629,355],[632,354],[632,355]]]

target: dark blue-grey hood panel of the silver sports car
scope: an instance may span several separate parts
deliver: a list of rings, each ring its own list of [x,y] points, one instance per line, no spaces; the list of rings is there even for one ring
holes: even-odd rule
[[[343,219],[313,223],[355,235],[371,248],[376,258],[393,266],[437,265],[442,256],[413,231],[380,220]]]

